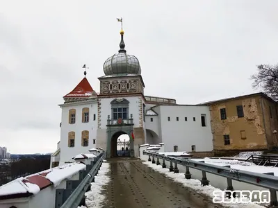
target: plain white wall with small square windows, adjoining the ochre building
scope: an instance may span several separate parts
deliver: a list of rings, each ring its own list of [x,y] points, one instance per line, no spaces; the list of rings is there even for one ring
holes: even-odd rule
[[[211,116],[207,106],[161,105],[154,110],[158,112],[158,122],[161,122],[161,125],[158,123],[158,136],[165,144],[165,151],[173,151],[174,146],[178,146],[179,151],[191,151],[192,145],[196,146],[197,152],[213,150]],[[201,125],[201,114],[206,115],[205,127]]]

